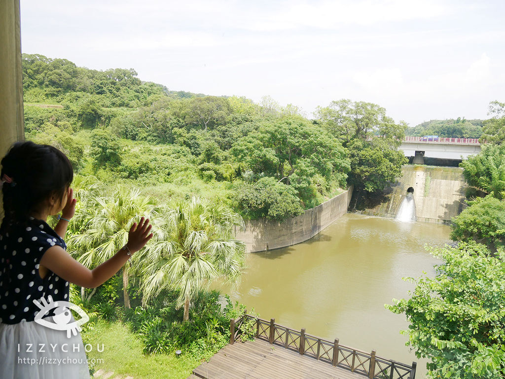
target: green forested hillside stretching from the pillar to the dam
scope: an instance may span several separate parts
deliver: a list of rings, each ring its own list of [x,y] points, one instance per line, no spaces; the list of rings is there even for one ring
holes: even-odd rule
[[[400,174],[406,125],[379,105],[319,107],[316,120],[264,97],[206,96],[23,55],[26,138],[62,148],[76,172],[159,199],[218,199],[246,218],[283,220],[354,184],[380,191]],[[381,137],[379,137],[381,136]]]

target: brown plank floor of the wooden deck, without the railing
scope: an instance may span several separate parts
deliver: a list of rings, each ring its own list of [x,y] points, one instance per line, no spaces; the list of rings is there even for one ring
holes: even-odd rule
[[[334,367],[293,350],[256,339],[226,345],[188,379],[364,379],[367,376]]]

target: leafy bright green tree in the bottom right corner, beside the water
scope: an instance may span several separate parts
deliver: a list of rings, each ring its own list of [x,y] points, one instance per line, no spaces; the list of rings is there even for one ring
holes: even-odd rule
[[[415,290],[386,308],[407,316],[402,333],[418,358],[431,359],[429,377],[505,377],[505,253],[466,244],[432,253],[443,260],[437,275],[404,278]]]

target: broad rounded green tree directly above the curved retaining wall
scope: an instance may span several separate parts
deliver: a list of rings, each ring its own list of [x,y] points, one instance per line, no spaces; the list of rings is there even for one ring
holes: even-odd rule
[[[238,139],[230,149],[233,166],[238,167],[238,175],[243,179],[251,182],[271,177],[275,182],[295,189],[294,193],[304,207],[318,205],[322,196],[335,187],[345,187],[350,168],[347,151],[321,126],[297,115],[271,117],[255,124],[256,129]],[[242,191],[239,196],[242,210],[245,210],[243,207],[247,206],[246,204],[257,207],[254,205],[256,201],[249,199],[249,196],[260,190],[260,187],[244,187],[247,191]],[[280,185],[270,187],[276,189],[275,192],[286,191]],[[289,195],[284,201],[279,202],[272,198],[265,202],[271,206],[281,203],[294,205]],[[281,220],[286,214],[297,214],[297,207],[298,205],[289,205],[285,210],[274,213],[278,214]],[[260,208],[253,213],[269,217],[274,214],[263,205]]]

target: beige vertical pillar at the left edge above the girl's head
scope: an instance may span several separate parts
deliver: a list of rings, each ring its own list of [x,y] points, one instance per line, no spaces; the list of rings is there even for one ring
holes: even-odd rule
[[[22,80],[19,0],[0,0],[0,157],[24,140]]]

